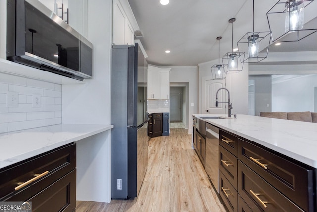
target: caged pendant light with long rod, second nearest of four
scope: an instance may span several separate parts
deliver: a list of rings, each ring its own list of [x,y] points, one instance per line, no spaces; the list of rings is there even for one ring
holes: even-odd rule
[[[254,31],[254,0],[252,2],[252,32],[247,32],[237,43],[239,51],[246,50],[247,57],[243,63],[257,63],[267,58],[271,42],[271,32]],[[260,43],[261,42],[261,43]],[[259,47],[260,46],[260,47]],[[259,49],[261,52],[259,52]]]

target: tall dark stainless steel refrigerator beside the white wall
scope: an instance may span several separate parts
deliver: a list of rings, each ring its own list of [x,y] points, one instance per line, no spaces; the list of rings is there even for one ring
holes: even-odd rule
[[[130,199],[148,161],[147,63],[137,43],[113,45],[111,67],[111,198]]]

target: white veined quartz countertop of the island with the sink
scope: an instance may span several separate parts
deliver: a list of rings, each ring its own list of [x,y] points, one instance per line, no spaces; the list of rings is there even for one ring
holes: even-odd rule
[[[194,116],[222,116],[194,114]],[[237,115],[236,119],[204,119],[250,141],[317,168],[317,123]]]

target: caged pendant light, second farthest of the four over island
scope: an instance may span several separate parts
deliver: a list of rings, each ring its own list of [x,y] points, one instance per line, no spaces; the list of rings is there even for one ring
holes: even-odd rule
[[[232,52],[228,52],[222,57],[222,63],[228,63],[228,69],[226,73],[238,73],[243,69],[244,55],[245,52],[234,52],[233,51],[233,22],[235,22],[235,18],[229,19],[229,23],[231,23],[231,33],[232,33]],[[224,62],[225,61],[225,62]]]

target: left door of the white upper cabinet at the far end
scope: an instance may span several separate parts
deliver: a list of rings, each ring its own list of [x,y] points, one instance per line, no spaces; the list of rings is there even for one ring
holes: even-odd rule
[[[160,71],[148,71],[148,99],[161,99]]]

